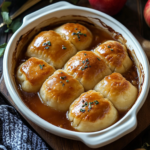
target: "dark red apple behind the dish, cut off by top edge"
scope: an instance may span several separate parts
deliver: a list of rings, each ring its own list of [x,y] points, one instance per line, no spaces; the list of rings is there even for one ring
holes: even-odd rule
[[[89,0],[91,6],[108,15],[117,14],[125,5],[127,0]]]

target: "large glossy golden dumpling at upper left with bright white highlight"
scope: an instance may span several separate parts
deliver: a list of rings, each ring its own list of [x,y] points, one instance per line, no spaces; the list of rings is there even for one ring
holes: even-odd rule
[[[55,68],[62,68],[66,61],[76,53],[76,48],[55,31],[39,33],[28,46],[26,55],[45,60]]]

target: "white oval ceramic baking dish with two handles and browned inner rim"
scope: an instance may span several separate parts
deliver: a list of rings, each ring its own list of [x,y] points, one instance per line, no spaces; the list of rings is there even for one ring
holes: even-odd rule
[[[20,52],[20,48],[16,48],[16,45],[18,44],[18,40],[20,37],[23,37],[22,35],[25,35],[27,33],[32,32],[33,28],[36,28],[36,26],[44,26],[45,24],[52,23],[53,21],[61,20],[61,18],[64,18],[65,16],[72,15],[72,17],[79,17],[82,20],[89,20],[90,22],[93,22],[96,26],[105,26],[107,24],[115,31],[122,34],[124,39],[126,39],[126,45],[131,50],[132,54],[134,55],[134,60],[139,68],[139,78],[140,78],[140,94],[138,96],[137,101],[132,106],[132,108],[128,111],[128,113],[117,123],[113,124],[112,126],[97,132],[74,132],[69,131],[66,129],[62,129],[59,127],[56,127],[36,114],[34,114],[21,100],[20,96],[18,95],[15,82],[14,82],[14,76],[12,75],[12,68],[13,68],[13,59],[14,59],[14,51],[17,55]],[[76,16],[75,16],[76,15]],[[99,19],[104,22],[100,23]],[[44,22],[44,23],[43,23]],[[102,25],[103,24],[103,25]],[[106,27],[106,26],[105,26]],[[104,29],[106,29],[104,27]],[[37,29],[38,30],[38,29]],[[107,29],[106,29],[107,30]],[[36,30],[34,30],[36,31]],[[29,40],[28,37],[25,38],[27,41]],[[24,42],[22,42],[23,45]],[[58,136],[74,139],[74,140],[80,140],[83,143],[85,143],[87,146],[91,148],[97,148],[104,146],[106,144],[109,144],[125,134],[133,131],[137,126],[137,119],[136,115],[141,106],[143,105],[148,91],[149,91],[149,63],[147,60],[147,57],[142,50],[140,44],[138,41],[134,38],[134,36],[126,29],[122,24],[120,24],[118,21],[113,19],[112,17],[99,12],[94,9],[85,8],[85,7],[78,7],[71,5],[67,2],[59,2],[52,4],[50,6],[47,6],[45,8],[42,8],[32,14],[27,15],[23,19],[23,25],[18,29],[18,31],[11,37],[6,51],[4,55],[4,80],[6,83],[6,87],[17,105],[17,107],[20,109],[20,111],[31,121],[36,123],[41,128],[47,130],[48,132],[51,132],[53,134],[56,134]]]

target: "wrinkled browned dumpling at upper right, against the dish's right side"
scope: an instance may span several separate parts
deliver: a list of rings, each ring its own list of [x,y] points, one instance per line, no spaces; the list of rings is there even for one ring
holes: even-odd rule
[[[124,73],[132,66],[126,47],[117,41],[104,42],[94,52],[105,60],[112,72]]]

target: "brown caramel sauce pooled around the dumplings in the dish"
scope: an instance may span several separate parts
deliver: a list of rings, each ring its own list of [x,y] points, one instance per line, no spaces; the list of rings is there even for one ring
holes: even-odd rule
[[[107,40],[115,40],[109,35],[106,31],[103,31],[101,29],[97,29],[92,25],[85,25],[92,33],[93,33],[93,41],[90,47],[87,50],[93,50],[96,46],[99,44],[107,41]],[[53,29],[52,27],[46,27],[43,28],[42,30],[50,30]],[[25,48],[27,49],[27,47]],[[26,50],[25,50],[26,51]],[[25,51],[23,51],[25,53]],[[17,72],[18,66],[25,62],[28,57],[24,55],[24,53],[20,56],[20,58],[17,60],[17,65],[15,69],[15,74]],[[129,57],[131,58],[130,54]],[[132,59],[132,58],[131,58]],[[133,60],[132,60],[133,61]],[[139,79],[138,79],[138,73],[137,73],[137,68],[133,62],[133,66],[131,69],[129,69],[126,73],[123,74],[123,76],[134,86],[138,88],[139,84]],[[67,119],[66,114],[67,112],[61,112],[61,111],[56,111],[42,103],[39,97],[39,92],[37,93],[27,93],[24,92],[21,89],[20,84],[17,81],[17,78],[15,76],[16,84],[18,87],[18,92],[23,100],[23,102],[29,107],[30,110],[32,110],[35,114],[37,114],[39,117],[42,119],[46,120],[47,122],[72,131],[76,131],[72,126],[70,121]],[[121,119],[127,112],[124,113],[119,113],[119,119]]]

